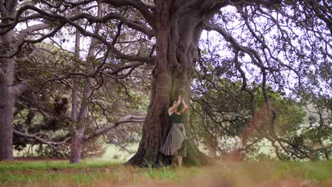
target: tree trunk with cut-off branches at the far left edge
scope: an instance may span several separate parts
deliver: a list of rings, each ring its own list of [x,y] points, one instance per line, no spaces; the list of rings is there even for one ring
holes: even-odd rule
[[[40,23],[30,26],[30,20],[24,21],[26,29],[16,30],[15,24],[11,24],[16,17],[18,1],[0,1],[0,45],[3,46],[0,52],[0,160],[13,159],[13,113],[14,104],[18,96],[26,90],[26,82],[29,80],[18,80],[16,75],[15,55],[21,50],[25,42],[36,42],[28,40],[29,35],[33,35],[39,30],[50,28],[48,23]],[[37,40],[43,40],[52,32],[43,35]]]

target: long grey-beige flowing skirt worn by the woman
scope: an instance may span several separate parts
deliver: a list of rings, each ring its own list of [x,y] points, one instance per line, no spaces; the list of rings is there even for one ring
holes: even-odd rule
[[[172,123],[161,152],[165,155],[173,155],[179,150],[179,156],[187,157],[186,131],[182,123]]]

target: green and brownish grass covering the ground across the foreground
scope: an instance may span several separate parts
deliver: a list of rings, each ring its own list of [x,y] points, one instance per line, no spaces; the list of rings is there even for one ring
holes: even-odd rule
[[[100,160],[0,162],[0,186],[332,186],[332,162],[219,162],[175,169]]]

